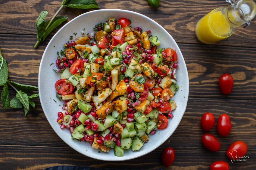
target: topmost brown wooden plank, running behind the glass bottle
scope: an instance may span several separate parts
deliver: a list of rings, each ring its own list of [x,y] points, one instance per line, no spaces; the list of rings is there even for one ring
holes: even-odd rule
[[[117,8],[132,10],[145,14],[162,25],[178,43],[200,43],[195,37],[197,21],[216,7],[224,6],[222,0],[214,1],[161,1],[158,10],[152,9],[145,0],[115,1],[99,0],[99,6],[104,8]],[[42,10],[49,12],[48,18],[54,15],[60,7],[60,1],[3,1],[0,13],[0,33],[10,34],[36,34],[35,24]],[[22,9],[22,12],[20,10]],[[64,8],[60,16],[67,16],[69,20],[89,10]],[[21,15],[22,14],[22,15]],[[158,15],[156,15],[158,14]],[[95,23],[96,24],[96,23]],[[64,25],[64,24],[62,24]],[[62,26],[61,25],[61,26]],[[60,27],[61,27],[60,26]],[[59,27],[59,28],[60,28]],[[12,29],[10,29],[12,28]],[[239,28],[236,33],[226,40],[216,43],[218,46],[256,46],[256,21],[251,22],[250,28]],[[19,30],[17,32],[17,30]],[[54,31],[56,32],[58,28]],[[48,42],[48,41],[47,41]]]

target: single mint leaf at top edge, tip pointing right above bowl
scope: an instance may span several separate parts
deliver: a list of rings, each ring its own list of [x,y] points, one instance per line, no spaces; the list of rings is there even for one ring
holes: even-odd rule
[[[66,0],[63,0],[62,4],[65,4]],[[79,9],[90,9],[99,8],[98,4],[94,0],[70,0],[64,7],[79,8]]]

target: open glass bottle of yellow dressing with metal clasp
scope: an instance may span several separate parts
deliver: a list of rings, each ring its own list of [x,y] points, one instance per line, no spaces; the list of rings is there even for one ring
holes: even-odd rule
[[[236,29],[254,18],[256,4],[253,0],[226,0],[231,5],[218,7],[202,17],[196,24],[195,35],[199,41],[206,44],[223,40]]]

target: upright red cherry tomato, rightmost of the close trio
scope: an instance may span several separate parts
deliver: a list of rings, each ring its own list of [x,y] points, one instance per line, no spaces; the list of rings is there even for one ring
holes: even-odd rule
[[[227,114],[222,114],[217,121],[217,131],[220,136],[227,136],[231,131],[231,121]]]

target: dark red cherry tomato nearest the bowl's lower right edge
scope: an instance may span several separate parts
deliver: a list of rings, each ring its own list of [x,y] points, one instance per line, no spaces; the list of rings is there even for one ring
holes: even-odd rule
[[[175,151],[173,148],[164,148],[161,155],[162,164],[164,166],[170,166],[175,160]]]

